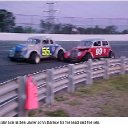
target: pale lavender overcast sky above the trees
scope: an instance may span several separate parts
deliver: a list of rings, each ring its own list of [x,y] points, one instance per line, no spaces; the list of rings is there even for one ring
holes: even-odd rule
[[[16,16],[17,25],[33,24],[39,26],[40,19],[48,16],[48,1],[0,1],[0,9],[6,9],[14,14],[39,15]],[[55,2],[55,1],[54,1]],[[127,27],[125,20],[89,20],[84,18],[128,18],[128,1],[56,1],[54,4],[56,23],[70,23],[77,26],[90,25],[117,25],[120,28]],[[82,17],[59,18],[58,17]],[[45,17],[46,18],[46,17]]]

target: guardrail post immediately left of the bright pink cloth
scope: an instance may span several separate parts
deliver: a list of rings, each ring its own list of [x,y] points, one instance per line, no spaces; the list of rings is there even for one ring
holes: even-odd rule
[[[25,100],[26,100],[26,76],[20,76],[17,78],[19,84],[18,88],[18,116],[26,117],[28,116],[28,111],[25,109]]]

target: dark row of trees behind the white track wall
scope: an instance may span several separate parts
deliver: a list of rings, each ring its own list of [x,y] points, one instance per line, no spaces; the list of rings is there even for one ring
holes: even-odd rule
[[[0,32],[14,33],[54,33],[54,34],[128,34],[128,29],[118,31],[114,25],[101,28],[77,27],[72,24],[50,23],[45,20],[40,21],[40,30],[30,27],[17,26],[15,16],[12,12],[0,9]]]

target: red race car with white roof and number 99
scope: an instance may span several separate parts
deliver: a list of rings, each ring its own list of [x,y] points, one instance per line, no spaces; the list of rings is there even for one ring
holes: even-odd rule
[[[64,53],[65,60],[74,62],[99,58],[115,58],[109,42],[104,39],[82,40],[77,47]]]

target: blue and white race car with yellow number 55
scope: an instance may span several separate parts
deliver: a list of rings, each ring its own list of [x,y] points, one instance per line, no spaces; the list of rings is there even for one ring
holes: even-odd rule
[[[28,38],[24,44],[17,44],[9,50],[8,57],[11,60],[26,59],[31,63],[38,64],[42,58],[64,59],[65,49],[56,44],[52,39],[44,36]]]

